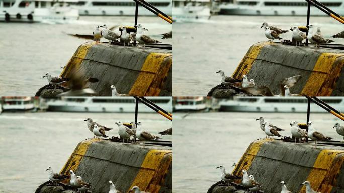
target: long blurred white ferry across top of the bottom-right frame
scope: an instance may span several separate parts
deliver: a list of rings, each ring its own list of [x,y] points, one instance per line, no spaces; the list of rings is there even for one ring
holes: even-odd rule
[[[344,111],[344,98],[340,97],[319,97],[322,101],[336,110]],[[230,112],[307,112],[307,98],[302,97],[249,97],[223,99],[219,102],[219,111]],[[322,113],[326,110],[311,102],[310,112]]]

